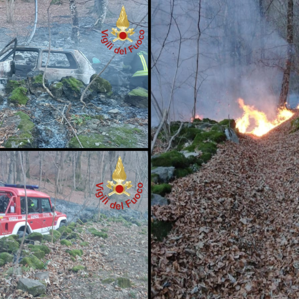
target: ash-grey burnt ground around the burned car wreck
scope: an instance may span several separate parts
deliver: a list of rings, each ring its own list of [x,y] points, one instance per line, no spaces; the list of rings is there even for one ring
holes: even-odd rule
[[[32,1],[30,1],[32,2]],[[117,1],[114,1],[116,3]],[[134,3],[134,1],[125,1],[128,3]],[[22,1],[22,3],[24,3]],[[127,3],[124,3],[125,6],[129,6]],[[2,4],[3,5],[3,4]],[[24,3],[25,5],[25,3]],[[32,5],[32,3],[30,3]],[[55,5],[56,6],[56,5]],[[82,11],[79,11],[79,25],[80,25],[80,44],[74,45],[70,40],[70,32],[71,32],[71,18],[68,15],[68,9],[65,5],[63,6],[63,10],[61,10],[61,15],[57,14],[52,17],[51,20],[51,46],[52,47],[63,47],[63,48],[75,48],[83,52],[83,54],[88,58],[90,62],[92,62],[92,58],[98,58],[101,63],[93,64],[95,70],[99,72],[106,65],[106,63],[113,56],[114,52],[108,50],[105,45],[101,43],[102,34],[100,32],[95,31],[94,23],[96,18],[87,14],[88,9],[85,7]],[[92,4],[89,4],[92,6]],[[118,10],[121,7],[121,1],[115,5],[117,6],[115,9],[111,8],[109,16],[103,25],[103,30],[108,29],[111,30],[112,27],[115,27],[115,21],[119,16]],[[23,7],[23,6],[22,6]],[[33,6],[34,7],[34,6]],[[81,7],[81,6],[80,6]],[[130,7],[130,6],[129,6]],[[1,3],[0,3],[1,8]],[[44,8],[43,8],[44,9]],[[127,8],[126,8],[127,9]],[[128,10],[128,9],[127,9]],[[144,9],[143,9],[144,10]],[[143,11],[142,10],[142,11]],[[2,10],[1,10],[2,11]],[[43,11],[44,14],[44,11]],[[141,13],[139,14],[141,15]],[[138,16],[139,16],[138,15]],[[129,13],[128,13],[129,16]],[[138,16],[134,17],[134,20],[139,19]],[[141,17],[140,17],[141,18]],[[54,21],[57,20],[57,21]],[[130,18],[129,18],[130,20]],[[39,45],[39,46],[48,46],[48,27],[46,26],[46,18],[44,15],[41,15],[40,24],[38,22],[38,26],[36,28],[35,35],[30,43],[30,45]],[[11,26],[7,24],[1,24],[0,26],[0,48],[2,48],[9,40],[11,40],[14,36],[18,37],[18,44],[22,44],[25,40],[27,40],[27,36],[30,35],[31,26],[27,25],[25,30],[21,30],[20,28],[20,20],[17,20],[18,29],[13,29]],[[136,27],[136,25],[135,25]],[[141,28],[139,28],[140,30]],[[143,48],[144,50],[148,50],[148,29],[143,27],[145,30],[145,42]],[[98,30],[96,28],[96,30]],[[29,33],[28,33],[29,32]],[[137,36],[137,34],[135,34]],[[124,56],[125,57],[125,56]],[[120,110],[120,114],[117,119],[111,119],[107,122],[104,122],[96,131],[90,130],[90,128],[75,128],[82,131],[82,134],[86,132],[102,134],[103,132],[107,132],[107,127],[109,128],[111,124],[117,125],[119,127],[124,126],[125,124],[132,124],[136,128],[142,130],[142,134],[138,136],[138,148],[147,148],[148,147],[148,109],[141,109],[137,107],[132,107],[123,102],[125,94],[127,94],[130,89],[128,88],[129,80],[132,74],[124,73],[121,71],[120,66],[122,65],[122,61],[124,59],[122,55],[117,55],[112,63],[105,70],[103,78],[113,81],[113,96],[106,97],[106,101],[101,99],[100,97],[95,98],[91,101],[91,103],[96,106],[102,108],[99,112],[93,108],[92,106],[87,106],[83,111],[81,107],[75,108],[76,106],[80,106],[78,102],[74,101],[72,103],[72,109],[70,111],[71,115],[107,115],[107,112],[111,109]],[[117,74],[117,76],[115,76]],[[1,94],[0,94],[1,95]],[[87,102],[88,103],[88,102]],[[0,110],[9,109],[11,111],[23,111],[26,112],[33,123],[37,126],[38,132],[38,140],[37,147],[38,148],[65,148],[67,146],[67,141],[73,137],[73,133],[69,130],[68,125],[60,125],[58,122],[53,120],[56,117],[55,111],[49,108],[49,105],[53,105],[56,108],[59,108],[61,111],[64,105],[59,105],[60,103],[55,100],[49,98],[47,94],[43,94],[40,97],[35,97],[34,95],[30,96],[30,101],[27,103],[26,107],[15,107],[11,108],[7,105],[7,99],[4,97],[4,102],[0,105]],[[58,118],[58,115],[57,115]],[[47,123],[46,125],[40,125],[43,123]],[[113,128],[113,127],[112,127]],[[89,130],[89,131],[88,131]],[[107,140],[109,142],[109,140]],[[118,145],[110,145],[112,147],[118,147]]]

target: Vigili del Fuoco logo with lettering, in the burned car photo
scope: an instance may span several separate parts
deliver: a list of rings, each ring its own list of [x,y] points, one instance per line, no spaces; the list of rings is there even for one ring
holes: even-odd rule
[[[120,40],[120,41],[128,40],[131,43],[133,42],[133,40],[131,38],[129,38],[129,36],[131,37],[135,33],[135,31],[134,31],[134,28],[130,28],[128,31],[126,31],[126,29],[130,26],[130,23],[128,21],[128,17],[127,17],[127,13],[126,13],[124,5],[122,7],[120,17],[118,18],[118,20],[116,22],[116,26],[120,29],[120,31],[118,31],[117,28],[112,28],[111,33],[113,35],[117,36],[115,39],[113,39],[113,41],[109,41],[107,38],[109,36],[107,33],[107,31],[109,31],[108,29],[102,31],[103,36],[102,36],[101,42],[103,44],[105,44],[109,50],[113,49],[113,46],[114,46],[113,42],[115,42],[117,40]],[[130,51],[132,53],[133,49],[138,49],[139,46],[142,44],[142,40],[145,37],[144,36],[145,31],[140,30],[139,34],[140,34],[139,38],[138,38],[137,42],[135,43],[135,45],[128,46],[128,52]],[[127,48],[125,47],[124,49],[121,49],[120,47],[118,47],[118,48],[114,49],[114,52],[116,54],[118,54],[118,53],[119,54],[127,54]]]

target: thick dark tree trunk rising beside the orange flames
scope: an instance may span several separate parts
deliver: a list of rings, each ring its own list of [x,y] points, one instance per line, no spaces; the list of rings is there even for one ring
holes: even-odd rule
[[[288,41],[288,49],[287,49],[287,59],[286,59],[286,67],[284,70],[284,77],[282,83],[281,94],[279,97],[279,107],[285,107],[287,104],[287,97],[289,93],[289,83],[290,83],[290,75],[291,75],[291,62],[292,62],[292,52],[293,52],[293,0],[288,0],[288,20],[287,20],[287,41]]]

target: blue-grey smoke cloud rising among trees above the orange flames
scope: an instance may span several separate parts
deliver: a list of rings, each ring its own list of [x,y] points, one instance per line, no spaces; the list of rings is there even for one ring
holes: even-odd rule
[[[287,41],[264,16],[256,0],[202,0],[196,114],[215,120],[239,118],[238,98],[274,118],[282,84]],[[171,7],[152,1],[152,66],[170,23]],[[189,121],[194,101],[198,1],[174,1],[182,35],[172,120]],[[168,107],[176,70],[179,32],[173,19],[164,48],[152,67],[151,90]],[[152,125],[158,123],[152,107]]]

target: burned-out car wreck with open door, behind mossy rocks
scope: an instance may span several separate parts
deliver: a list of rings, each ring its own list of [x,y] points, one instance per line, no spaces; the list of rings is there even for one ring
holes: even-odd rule
[[[48,48],[18,46],[17,38],[10,41],[0,51],[0,80],[7,79],[13,74],[26,77],[32,70],[44,71],[48,58]],[[47,66],[49,82],[59,81],[62,77],[72,76],[85,84],[96,71],[79,50],[51,48]]]

